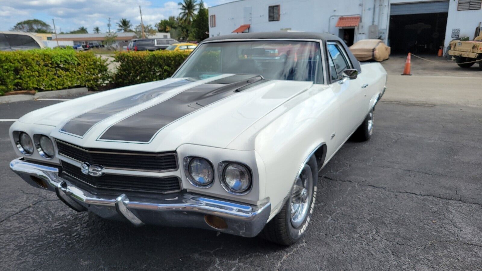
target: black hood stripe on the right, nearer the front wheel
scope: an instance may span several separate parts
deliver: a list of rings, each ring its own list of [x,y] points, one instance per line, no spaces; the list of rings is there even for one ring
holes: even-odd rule
[[[260,76],[233,75],[187,89],[117,122],[99,140],[148,143],[169,123],[264,81]]]

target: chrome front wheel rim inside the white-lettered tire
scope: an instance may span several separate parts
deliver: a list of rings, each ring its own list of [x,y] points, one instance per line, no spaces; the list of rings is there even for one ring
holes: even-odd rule
[[[308,215],[310,199],[313,197],[313,173],[307,164],[296,178],[290,197],[290,218],[293,227],[301,226]]]

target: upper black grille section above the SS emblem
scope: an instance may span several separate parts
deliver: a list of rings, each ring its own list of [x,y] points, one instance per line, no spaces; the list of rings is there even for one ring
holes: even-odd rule
[[[56,140],[60,154],[81,163],[99,164],[109,168],[167,171],[177,169],[174,153],[139,153],[110,149],[82,149]]]

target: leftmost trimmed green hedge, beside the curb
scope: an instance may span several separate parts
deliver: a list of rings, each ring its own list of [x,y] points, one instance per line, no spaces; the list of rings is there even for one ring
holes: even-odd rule
[[[92,52],[39,49],[0,52],[0,95],[13,90],[48,91],[112,81],[107,60]]]

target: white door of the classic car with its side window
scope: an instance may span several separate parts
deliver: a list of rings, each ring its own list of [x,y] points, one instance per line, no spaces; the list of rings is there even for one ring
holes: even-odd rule
[[[338,42],[327,42],[330,87],[337,95],[340,123],[336,142],[343,144],[366,115],[362,101],[362,82],[359,78],[343,77],[343,71],[353,68],[348,54]]]

